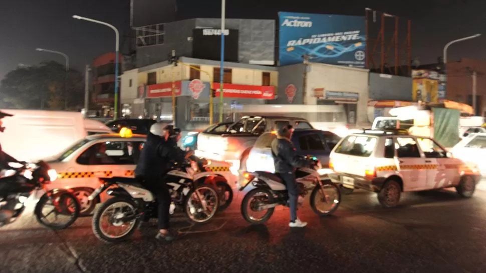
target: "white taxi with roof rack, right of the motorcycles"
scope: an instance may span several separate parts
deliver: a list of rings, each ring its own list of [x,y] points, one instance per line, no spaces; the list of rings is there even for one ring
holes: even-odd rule
[[[454,158],[429,137],[402,130],[362,130],[344,137],[330,154],[331,180],[378,193],[384,207],[401,192],[455,187],[471,197],[481,178],[476,165]]]

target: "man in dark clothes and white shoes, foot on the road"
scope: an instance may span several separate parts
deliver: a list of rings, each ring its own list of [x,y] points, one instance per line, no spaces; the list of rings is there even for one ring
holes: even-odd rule
[[[311,163],[296,153],[296,149],[290,140],[294,128],[292,125],[281,127],[277,131],[277,138],[272,141],[272,155],[275,163],[275,173],[278,174],[287,185],[290,206],[290,227],[304,227],[307,222],[297,217],[297,200],[299,192],[295,178],[295,169],[310,167]]]

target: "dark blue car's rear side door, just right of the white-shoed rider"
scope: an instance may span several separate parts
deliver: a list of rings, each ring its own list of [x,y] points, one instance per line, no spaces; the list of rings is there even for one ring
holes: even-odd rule
[[[331,153],[331,150],[324,144],[317,131],[300,134],[296,140],[298,154],[316,156],[323,166],[329,165],[329,153]]]

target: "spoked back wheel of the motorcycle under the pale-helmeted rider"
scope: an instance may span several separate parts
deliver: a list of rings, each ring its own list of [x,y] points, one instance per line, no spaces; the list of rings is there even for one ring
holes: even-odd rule
[[[93,215],[93,233],[103,242],[121,242],[130,237],[140,223],[136,204],[129,198],[113,197],[102,203]],[[130,216],[130,220],[124,220]]]

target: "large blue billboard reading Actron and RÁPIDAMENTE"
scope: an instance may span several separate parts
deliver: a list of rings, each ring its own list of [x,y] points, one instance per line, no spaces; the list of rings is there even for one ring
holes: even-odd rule
[[[311,62],[365,67],[365,17],[279,12],[279,65]]]

